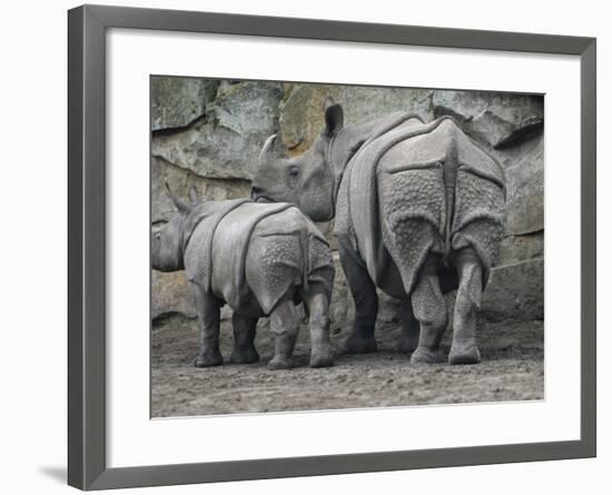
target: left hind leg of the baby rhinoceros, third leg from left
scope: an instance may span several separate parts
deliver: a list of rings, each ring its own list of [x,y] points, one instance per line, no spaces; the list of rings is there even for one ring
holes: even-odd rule
[[[293,368],[299,318],[292,298],[286,297],[274,308],[270,315],[270,329],[276,338],[276,348],[274,358],[268,363],[268,369]]]

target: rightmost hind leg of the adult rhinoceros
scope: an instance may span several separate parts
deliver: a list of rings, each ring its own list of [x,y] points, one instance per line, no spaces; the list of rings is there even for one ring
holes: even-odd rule
[[[453,316],[453,344],[448,363],[476,364],[481,362],[476,345],[476,315],[481,307],[482,266],[471,248],[462,249],[457,254],[455,265],[460,274],[460,287]]]

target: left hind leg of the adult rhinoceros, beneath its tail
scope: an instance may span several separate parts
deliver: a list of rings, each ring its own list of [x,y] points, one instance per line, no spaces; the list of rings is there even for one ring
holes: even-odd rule
[[[413,364],[442,363],[445,357],[440,340],[446,328],[446,303],[437,278],[437,257],[430,256],[412,294],[412,305],[421,325],[418,346],[411,357]]]

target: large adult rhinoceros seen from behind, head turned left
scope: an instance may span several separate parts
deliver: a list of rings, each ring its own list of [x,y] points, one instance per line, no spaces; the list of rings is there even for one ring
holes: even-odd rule
[[[344,127],[329,98],[324,112],[302,156],[284,158],[275,136],[266,140],[251,197],[295,202],[315,221],[335,217],[356,308],[346,350],[376,350],[379,287],[403,301],[401,349],[413,363],[443,360],[443,294],[458,287],[448,363],[478,363],[476,311],[505,222],[500,165],[450,117],[396,112]]]

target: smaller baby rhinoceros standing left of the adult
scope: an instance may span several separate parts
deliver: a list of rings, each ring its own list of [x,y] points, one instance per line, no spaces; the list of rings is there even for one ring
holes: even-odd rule
[[[231,363],[255,363],[255,329],[270,317],[276,349],[270,369],[293,366],[299,330],[296,304],[309,315],[310,366],[332,366],[329,299],[334,281],[332,253],[316,226],[290,204],[249,199],[189,201],[166,189],[177,212],[151,236],[152,268],[185,269],[195,293],[200,329],[196,366],[223,364],[219,311],[233,310]]]

